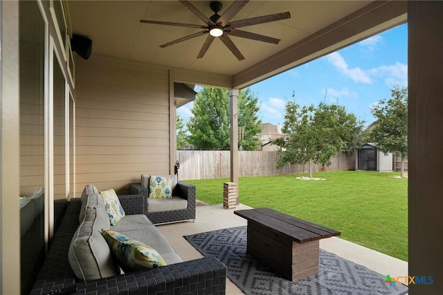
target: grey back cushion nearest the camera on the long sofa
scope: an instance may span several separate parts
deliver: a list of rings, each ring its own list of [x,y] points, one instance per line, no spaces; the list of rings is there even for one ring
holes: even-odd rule
[[[109,246],[102,237],[102,229],[109,229],[109,216],[100,194],[87,197],[84,219],[71,240],[69,264],[80,280],[95,280],[116,276],[120,271]]]

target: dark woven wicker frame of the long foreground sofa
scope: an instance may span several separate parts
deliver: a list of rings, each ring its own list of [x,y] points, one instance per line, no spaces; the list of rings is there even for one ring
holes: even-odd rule
[[[119,196],[127,215],[142,214],[142,195]],[[79,226],[80,199],[71,199],[39,271],[31,295],[51,294],[75,285],[73,294],[225,294],[226,265],[206,257],[147,271],[134,271],[109,278],[78,281],[69,265],[68,250]],[[58,293],[57,293],[58,294]]]

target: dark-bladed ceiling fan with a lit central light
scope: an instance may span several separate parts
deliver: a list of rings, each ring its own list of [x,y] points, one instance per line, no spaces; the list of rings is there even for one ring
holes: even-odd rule
[[[188,10],[194,13],[197,17],[199,17],[199,19],[204,21],[206,26],[198,24],[175,23],[169,21],[150,21],[147,19],[141,19],[140,22],[146,24],[161,24],[167,26],[183,26],[187,28],[204,29],[201,30],[200,32],[185,37],[181,37],[179,39],[165,43],[160,46],[161,48],[165,48],[167,46],[177,44],[179,42],[183,42],[188,39],[208,34],[208,37],[206,38],[206,41],[201,47],[201,50],[199,52],[199,55],[197,55],[197,58],[204,57],[206,51],[208,51],[210,44],[212,44],[214,39],[218,37],[221,40],[221,42],[223,42],[226,45],[226,47],[228,47],[229,50],[235,55],[235,57],[237,57],[238,60],[244,60],[244,56],[242,55],[242,53],[240,53],[239,49],[237,48],[237,46],[235,46],[235,44],[228,35],[253,39],[262,42],[268,42],[272,44],[278,44],[280,42],[280,39],[260,34],[255,34],[251,32],[246,32],[244,30],[237,30],[237,28],[242,28],[244,26],[252,26],[255,24],[263,24],[270,21],[278,21],[280,19],[289,19],[291,17],[291,14],[289,12],[281,12],[275,15],[264,15],[262,17],[252,17],[250,19],[230,21],[230,19],[232,19],[237,14],[237,12],[239,12],[246,5],[246,3],[248,3],[248,1],[240,1],[240,0],[234,1],[234,3],[231,6],[229,6],[229,8],[226,9],[226,11],[222,15],[218,15],[217,13],[223,7],[221,2],[212,1],[209,4],[209,7],[211,10],[213,10],[213,12],[215,12],[215,14],[209,18],[206,17],[206,15],[204,15],[203,13],[201,13],[197,8],[195,8],[195,6],[193,6],[189,1],[179,0],[179,2],[182,3],[183,6],[188,8]]]

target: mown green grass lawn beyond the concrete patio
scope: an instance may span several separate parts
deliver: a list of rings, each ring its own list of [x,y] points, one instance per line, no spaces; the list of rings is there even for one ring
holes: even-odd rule
[[[325,181],[298,175],[239,178],[239,199],[253,208],[269,207],[341,231],[341,238],[408,261],[408,179],[397,172],[317,172]],[[197,199],[223,203],[228,179],[189,180]]]

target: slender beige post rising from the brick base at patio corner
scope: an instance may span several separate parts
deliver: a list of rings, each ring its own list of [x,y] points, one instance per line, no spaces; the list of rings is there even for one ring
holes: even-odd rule
[[[235,193],[238,199],[238,89],[229,89],[230,100],[230,182],[237,184]]]

